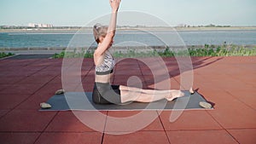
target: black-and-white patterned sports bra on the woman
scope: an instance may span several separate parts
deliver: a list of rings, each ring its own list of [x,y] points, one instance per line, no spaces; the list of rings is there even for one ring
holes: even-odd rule
[[[102,60],[102,64],[96,66],[96,74],[97,75],[106,75],[113,72],[114,60],[113,56],[110,54],[108,50],[106,50],[104,54],[104,58]]]

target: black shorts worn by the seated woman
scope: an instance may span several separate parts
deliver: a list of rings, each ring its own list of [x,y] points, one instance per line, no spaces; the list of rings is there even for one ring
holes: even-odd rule
[[[119,85],[95,83],[92,101],[96,104],[121,104]]]

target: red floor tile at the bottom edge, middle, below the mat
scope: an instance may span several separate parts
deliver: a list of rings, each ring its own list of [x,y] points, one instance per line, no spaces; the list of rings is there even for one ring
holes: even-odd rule
[[[147,144],[169,144],[165,131],[137,131],[127,135],[104,135],[103,144],[112,143],[147,143]]]

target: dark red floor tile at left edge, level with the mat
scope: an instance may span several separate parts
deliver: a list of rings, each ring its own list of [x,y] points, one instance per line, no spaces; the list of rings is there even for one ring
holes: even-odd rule
[[[25,101],[29,96],[30,94],[3,94],[0,96],[0,109],[12,109],[19,105],[20,102]]]

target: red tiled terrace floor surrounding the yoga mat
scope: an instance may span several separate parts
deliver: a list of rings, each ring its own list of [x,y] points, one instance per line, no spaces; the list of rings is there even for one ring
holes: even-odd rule
[[[214,110],[184,111],[174,123],[169,121],[172,111],[150,111],[158,115],[154,122],[128,135],[109,135],[122,130],[110,127],[108,118],[98,122],[106,131],[103,134],[81,123],[71,111],[39,112],[39,103],[61,89],[62,60],[28,58],[0,60],[0,143],[256,143],[256,57],[193,58],[194,88],[215,103]],[[171,75],[167,81],[177,89],[177,62],[164,60]],[[122,60],[116,70],[113,84],[126,84],[127,78],[137,76],[144,88],[154,87],[152,73],[138,60]],[[81,71],[84,90],[91,91],[92,59],[84,59]],[[67,90],[76,87],[73,83],[73,89]],[[125,118],[137,112],[102,113]]]

